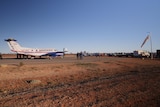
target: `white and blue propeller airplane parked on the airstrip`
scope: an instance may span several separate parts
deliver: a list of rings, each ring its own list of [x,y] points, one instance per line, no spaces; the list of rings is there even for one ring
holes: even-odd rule
[[[50,58],[55,56],[63,56],[65,52],[67,52],[67,49],[64,48],[63,51],[57,51],[55,49],[37,49],[37,48],[26,48],[21,47],[15,40],[15,39],[6,39],[10,49],[12,52],[17,53],[17,58],[24,58],[25,56],[28,58],[28,56],[31,56],[31,58],[34,58],[36,56],[49,56]]]

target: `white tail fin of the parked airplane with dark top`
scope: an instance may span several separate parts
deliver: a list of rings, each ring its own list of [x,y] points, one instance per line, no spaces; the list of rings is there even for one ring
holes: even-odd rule
[[[15,39],[6,39],[5,41],[7,41],[11,51],[20,51],[22,49],[22,47],[16,42],[17,40]]]

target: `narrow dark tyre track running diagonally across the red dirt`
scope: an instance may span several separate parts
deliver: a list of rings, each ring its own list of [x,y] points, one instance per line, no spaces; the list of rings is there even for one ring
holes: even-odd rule
[[[25,94],[29,94],[29,93],[33,93],[33,92],[41,92],[41,91],[46,91],[46,90],[57,90],[60,88],[68,88],[71,86],[90,84],[92,82],[97,82],[97,81],[101,82],[101,81],[111,80],[111,79],[125,77],[125,76],[133,76],[133,75],[136,75],[137,73],[138,73],[137,71],[131,71],[128,73],[119,73],[119,74],[105,76],[105,77],[94,77],[91,79],[82,80],[82,81],[78,81],[78,82],[74,82],[74,83],[65,83],[65,84],[62,83],[62,84],[58,84],[58,85],[54,85],[54,86],[35,87],[34,89],[24,90],[24,91],[20,91],[20,92],[9,92],[7,94],[1,92],[0,98],[20,96],[20,95],[25,95]],[[144,73],[144,72],[141,72],[141,73]]]

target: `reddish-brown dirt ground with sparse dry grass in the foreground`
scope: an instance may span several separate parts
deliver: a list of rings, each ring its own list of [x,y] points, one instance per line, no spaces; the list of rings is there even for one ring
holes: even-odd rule
[[[1,64],[0,106],[158,107],[159,81],[160,60],[91,57]]]

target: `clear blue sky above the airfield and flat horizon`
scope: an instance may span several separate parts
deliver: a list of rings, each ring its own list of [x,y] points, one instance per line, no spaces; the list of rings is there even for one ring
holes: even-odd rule
[[[0,52],[4,39],[24,47],[68,48],[69,53],[160,49],[160,0],[0,0]]]

